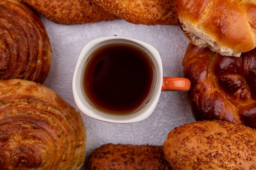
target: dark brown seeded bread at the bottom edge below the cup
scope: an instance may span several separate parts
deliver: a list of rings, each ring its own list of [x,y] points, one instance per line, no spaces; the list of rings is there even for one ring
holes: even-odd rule
[[[162,146],[106,144],[90,155],[86,170],[172,170]]]

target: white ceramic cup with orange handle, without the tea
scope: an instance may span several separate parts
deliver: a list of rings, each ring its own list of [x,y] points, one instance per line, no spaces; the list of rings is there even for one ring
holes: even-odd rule
[[[144,50],[146,53],[148,53],[148,56],[155,66],[153,71],[153,82],[151,84],[148,96],[141,106],[139,106],[139,108],[128,114],[104,113],[104,111],[99,110],[90,102],[83,88],[85,67],[90,60],[92,52],[98,49],[100,46],[117,42],[129,43]],[[165,77],[163,79],[162,61],[155,47],[141,40],[120,36],[102,37],[88,42],[83,47],[79,55],[72,82],[73,96],[76,106],[83,114],[97,120],[119,124],[135,123],[149,117],[157,105],[161,91],[188,91],[189,88],[190,82],[188,79],[179,77]]]

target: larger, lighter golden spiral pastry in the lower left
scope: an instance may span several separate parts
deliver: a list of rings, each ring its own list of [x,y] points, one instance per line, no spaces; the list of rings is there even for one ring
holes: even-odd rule
[[[1,170],[78,170],[85,140],[81,115],[54,91],[0,80]]]

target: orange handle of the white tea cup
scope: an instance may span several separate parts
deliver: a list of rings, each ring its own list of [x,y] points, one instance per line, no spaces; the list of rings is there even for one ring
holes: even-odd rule
[[[181,77],[164,77],[162,91],[189,91],[190,81]]]

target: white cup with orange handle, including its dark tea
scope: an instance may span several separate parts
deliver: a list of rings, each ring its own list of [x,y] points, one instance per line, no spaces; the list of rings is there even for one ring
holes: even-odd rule
[[[134,38],[110,36],[88,42],[72,80],[77,108],[111,123],[135,123],[153,113],[161,91],[188,91],[189,79],[163,77],[154,46]]]

